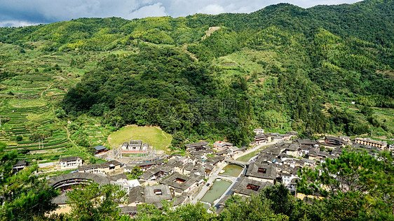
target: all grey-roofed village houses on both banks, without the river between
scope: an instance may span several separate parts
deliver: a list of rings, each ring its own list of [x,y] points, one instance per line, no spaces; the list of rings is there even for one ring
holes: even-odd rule
[[[276,183],[282,183],[294,192],[299,180],[297,175],[299,169],[303,167],[315,169],[315,166],[325,162],[327,158],[339,157],[346,145],[350,145],[353,151],[367,150],[375,157],[378,155],[376,152],[380,150],[394,150],[394,145],[369,138],[355,138],[352,142],[346,136],[326,136],[317,141],[309,139],[290,141],[297,132],[270,134],[264,133],[262,129],[256,132],[255,144],[277,142],[262,150],[246,164],[245,173],[231,188],[233,194],[241,196],[258,194],[265,187]],[[188,152],[186,156],[170,155],[147,162],[130,162],[129,165],[116,160],[84,165],[81,157],[62,157],[59,161],[60,169],[76,169],[76,171],[50,178],[50,185],[62,190],[62,194],[53,202],[59,205],[65,204],[67,200],[65,192],[71,190],[72,185],[93,180],[100,185],[108,183],[119,185],[128,193],[128,204],[121,208],[121,213],[133,215],[137,213],[139,204],[154,204],[161,208],[163,200],[172,201],[173,206],[177,206],[191,201],[205,185],[205,180],[226,164],[225,159],[231,159],[247,149],[238,148],[233,143],[225,141],[217,141],[213,145],[201,141],[184,146]],[[130,141],[121,145],[122,151],[130,152],[143,152],[148,148],[149,145],[142,141]],[[107,150],[100,146],[95,149],[97,152]],[[13,170],[19,171],[27,165],[27,162],[20,161],[13,166]],[[138,180],[128,180],[125,172],[132,171],[135,166],[140,167],[144,173]],[[226,197],[222,200],[225,199]]]

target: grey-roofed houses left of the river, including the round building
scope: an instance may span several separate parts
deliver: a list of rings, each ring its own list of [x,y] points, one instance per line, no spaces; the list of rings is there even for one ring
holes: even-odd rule
[[[127,145],[123,143],[123,147],[127,146],[132,151],[138,151],[137,148],[144,147],[142,142],[130,143]],[[81,157],[62,157],[60,167],[76,169],[76,172],[51,179],[51,185],[63,191],[54,199],[54,202],[64,205],[67,200],[64,192],[69,191],[72,185],[81,184],[90,179],[102,185],[107,183],[120,185],[128,192],[128,205],[121,208],[122,213],[130,215],[137,213],[139,204],[154,204],[161,208],[163,199],[171,200],[173,206],[177,206],[193,199],[204,184],[204,179],[209,178],[212,171],[224,164],[226,157],[246,150],[246,148],[237,148],[232,143],[224,141],[217,141],[213,147],[208,142],[189,143],[185,145],[185,148],[189,152],[187,156],[171,155],[130,165],[116,160],[83,165]],[[144,173],[138,180],[128,180],[125,172],[131,171],[135,166],[139,166]]]

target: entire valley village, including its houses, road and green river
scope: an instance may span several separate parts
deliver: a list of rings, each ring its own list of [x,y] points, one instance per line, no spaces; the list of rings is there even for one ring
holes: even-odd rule
[[[70,208],[66,193],[74,185],[88,182],[119,185],[128,194],[128,203],[119,205],[121,213],[131,216],[138,213],[140,204],[161,208],[163,201],[171,201],[175,207],[201,202],[210,212],[220,213],[232,194],[248,197],[278,183],[301,200],[319,198],[318,194],[296,191],[300,169],[318,169],[326,159],[339,157],[345,148],[367,151],[374,157],[379,156],[379,151],[394,150],[394,145],[369,138],[325,136],[311,140],[297,138],[295,131],[278,134],[254,129],[254,132],[256,136],[250,147],[238,148],[225,141],[212,144],[201,141],[186,143],[187,155],[165,155],[157,154],[148,143],[132,140],[113,150],[96,146],[95,156],[107,160],[100,164],[85,164],[79,156],[62,157],[59,169],[75,170],[48,179],[48,185],[61,192],[53,199],[60,206],[56,213],[67,213]],[[130,152],[143,157],[126,157]],[[27,162],[20,161],[13,169],[20,171],[25,166]],[[127,174],[135,168],[142,175],[128,179]]]

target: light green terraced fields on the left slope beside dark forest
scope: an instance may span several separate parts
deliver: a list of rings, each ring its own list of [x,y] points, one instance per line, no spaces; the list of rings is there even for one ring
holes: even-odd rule
[[[107,129],[98,120],[79,117],[75,120],[81,124],[77,130],[72,127],[74,122],[55,115],[67,89],[79,82],[100,54],[74,67],[70,54],[22,53],[15,45],[4,43],[0,49],[6,52],[0,54],[0,74],[12,73],[11,78],[0,81],[0,142],[8,144],[6,151],[16,150],[19,159],[29,162],[52,162],[74,155],[87,159],[91,155],[87,147],[76,144],[79,139],[86,138],[91,146],[107,142]]]

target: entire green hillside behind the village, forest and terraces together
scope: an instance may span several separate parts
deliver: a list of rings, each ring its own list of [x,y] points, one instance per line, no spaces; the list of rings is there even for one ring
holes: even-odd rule
[[[1,141],[55,160],[88,158],[126,124],[159,126],[175,146],[245,145],[255,127],[393,138],[393,12],[393,1],[280,3],[1,28]]]

